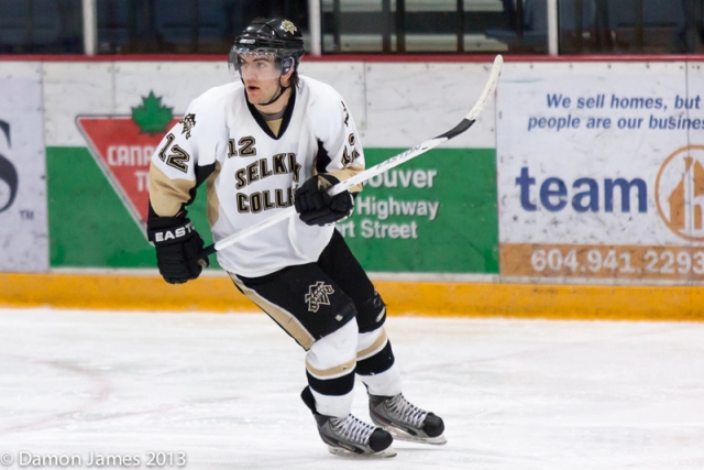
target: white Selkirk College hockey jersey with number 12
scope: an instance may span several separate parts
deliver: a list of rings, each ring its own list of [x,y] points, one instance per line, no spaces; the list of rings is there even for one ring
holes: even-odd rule
[[[296,187],[317,173],[344,181],[363,170],[354,120],[332,87],[300,77],[275,134],[233,83],[195,99],[162,140],[150,168],[151,214],[177,215],[207,181],[218,241],[293,206]],[[218,252],[218,262],[246,277],[316,262],[333,230],[290,217]]]

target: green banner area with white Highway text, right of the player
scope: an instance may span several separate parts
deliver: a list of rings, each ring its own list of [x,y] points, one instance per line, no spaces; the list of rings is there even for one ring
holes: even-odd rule
[[[493,149],[436,149],[370,179],[338,230],[370,271],[496,274],[495,187]]]

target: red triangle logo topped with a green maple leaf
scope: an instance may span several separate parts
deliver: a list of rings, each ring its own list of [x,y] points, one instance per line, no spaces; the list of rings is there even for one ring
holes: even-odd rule
[[[146,237],[148,173],[152,154],[178,122],[173,108],[153,91],[131,116],[78,116],[76,123],[90,153]]]

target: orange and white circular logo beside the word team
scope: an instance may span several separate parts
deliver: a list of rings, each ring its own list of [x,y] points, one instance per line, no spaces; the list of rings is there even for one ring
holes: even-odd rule
[[[660,217],[679,237],[704,241],[704,145],[690,145],[671,154],[656,181]]]

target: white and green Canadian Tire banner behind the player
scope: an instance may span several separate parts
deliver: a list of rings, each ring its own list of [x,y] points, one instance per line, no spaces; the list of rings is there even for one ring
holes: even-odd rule
[[[454,127],[487,74],[480,64],[416,64],[404,87],[389,85],[408,72],[405,67],[301,67],[344,96],[362,128],[369,166]],[[430,99],[427,80],[421,80],[429,76],[437,78],[433,87],[462,94],[462,99]],[[154,249],[144,236],[151,155],[190,100],[231,79],[222,64],[46,64],[52,267],[155,267]],[[414,102],[419,105],[413,108]],[[493,109],[472,133],[475,145],[486,147],[448,145],[366,185],[354,215],[340,225],[364,267],[384,273],[498,273]],[[188,210],[208,243],[205,193],[201,187]]]

